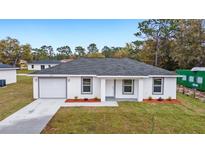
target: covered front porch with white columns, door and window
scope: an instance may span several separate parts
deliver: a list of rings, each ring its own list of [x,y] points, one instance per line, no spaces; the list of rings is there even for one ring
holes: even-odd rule
[[[101,102],[143,101],[143,78],[141,77],[101,77]]]

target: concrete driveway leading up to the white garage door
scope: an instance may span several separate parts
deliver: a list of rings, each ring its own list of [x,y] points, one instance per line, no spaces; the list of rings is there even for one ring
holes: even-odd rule
[[[38,99],[0,121],[0,134],[39,134],[64,99]]]

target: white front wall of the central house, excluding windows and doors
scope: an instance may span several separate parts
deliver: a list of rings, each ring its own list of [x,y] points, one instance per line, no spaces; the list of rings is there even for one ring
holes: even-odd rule
[[[92,86],[92,94],[82,94],[81,92],[81,77],[67,77],[67,98],[101,98],[101,93],[104,97],[106,97],[106,87],[101,88],[102,82],[101,78],[93,77],[93,86]],[[147,99],[151,96],[153,99],[157,99],[159,97],[163,99],[167,99],[171,97],[172,99],[176,99],[176,78],[175,77],[165,77],[164,78],[164,87],[162,95],[153,95],[152,94],[152,85],[153,78],[144,78],[144,79],[135,79],[134,80],[134,94],[132,95],[124,95],[122,92],[122,79],[116,79],[116,87],[115,87],[115,97],[117,99],[136,99],[138,101],[142,101],[143,99]],[[48,85],[49,86],[49,85]],[[33,97],[38,98],[38,77],[33,77]]]

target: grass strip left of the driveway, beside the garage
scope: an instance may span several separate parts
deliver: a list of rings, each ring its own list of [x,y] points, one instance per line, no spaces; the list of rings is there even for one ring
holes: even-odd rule
[[[17,83],[0,88],[0,120],[31,103],[32,78],[17,76]]]

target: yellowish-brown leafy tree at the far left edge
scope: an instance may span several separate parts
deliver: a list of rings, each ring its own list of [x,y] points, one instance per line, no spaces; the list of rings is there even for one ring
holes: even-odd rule
[[[17,66],[22,57],[29,59],[30,52],[30,45],[20,45],[17,39],[7,37],[0,40],[0,61],[6,64]]]

